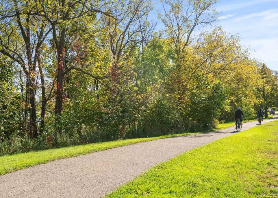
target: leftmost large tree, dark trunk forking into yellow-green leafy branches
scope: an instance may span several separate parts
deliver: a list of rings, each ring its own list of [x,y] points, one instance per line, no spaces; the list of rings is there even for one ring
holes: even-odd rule
[[[34,15],[34,3],[34,1],[10,0],[2,3],[0,52],[23,68],[26,78],[25,103],[30,105],[28,108],[30,132],[31,136],[36,137],[38,135],[35,97],[37,62],[40,47],[51,28]],[[26,117],[25,111],[24,118]]]

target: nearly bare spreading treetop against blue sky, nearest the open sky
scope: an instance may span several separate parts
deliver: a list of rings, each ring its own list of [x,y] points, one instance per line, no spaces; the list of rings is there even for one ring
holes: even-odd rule
[[[217,0],[161,0],[162,10],[158,15],[164,23],[169,45],[177,56],[186,46],[197,42],[202,28],[212,25],[218,18],[214,6]]]

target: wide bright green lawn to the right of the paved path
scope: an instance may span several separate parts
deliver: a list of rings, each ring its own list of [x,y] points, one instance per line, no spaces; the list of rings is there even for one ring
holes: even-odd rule
[[[278,197],[277,127],[273,121],[186,152],[108,197]]]

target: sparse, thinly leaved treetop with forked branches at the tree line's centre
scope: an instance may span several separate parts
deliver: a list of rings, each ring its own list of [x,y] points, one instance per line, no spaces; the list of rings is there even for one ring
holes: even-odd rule
[[[129,0],[121,1],[113,16],[103,15],[103,26],[109,33],[114,76],[120,69],[119,61],[127,60],[138,44],[147,43],[151,38],[155,27],[147,21],[151,10],[153,7],[149,0]]]

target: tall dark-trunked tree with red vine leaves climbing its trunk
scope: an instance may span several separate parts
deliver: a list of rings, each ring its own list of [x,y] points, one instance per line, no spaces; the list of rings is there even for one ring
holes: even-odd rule
[[[38,0],[37,12],[52,28],[53,47],[56,52],[57,78],[56,78],[56,100],[55,114],[61,114],[64,99],[65,75],[75,67],[65,70],[66,37],[74,32],[80,32],[84,28],[92,26],[96,20],[96,14],[110,14],[114,4],[112,1],[86,1],[86,0]],[[78,70],[81,71],[79,68]]]

